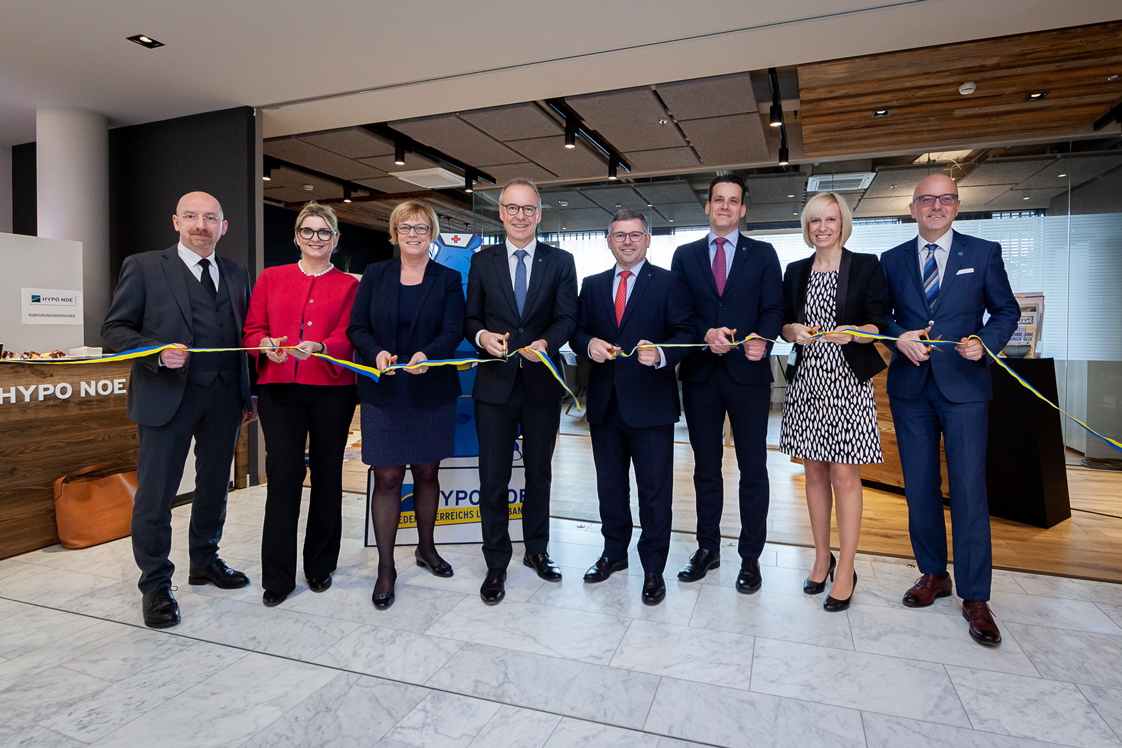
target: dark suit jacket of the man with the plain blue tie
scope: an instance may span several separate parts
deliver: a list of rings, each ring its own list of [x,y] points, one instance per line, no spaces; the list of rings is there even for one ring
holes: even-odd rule
[[[535,340],[545,340],[549,354],[561,371],[560,349],[577,329],[577,266],[572,255],[537,242],[534,269],[530,274],[526,302],[518,315],[511,283],[506,243],[484,247],[471,257],[468,271],[468,314],[463,335],[472,344],[480,330],[511,333],[507,350],[515,351]],[[489,353],[480,349],[480,355]],[[561,399],[561,386],[540,361],[512,355],[504,363],[480,366],[472,397],[480,403],[502,404],[511,397],[518,368],[523,368],[526,396]]]

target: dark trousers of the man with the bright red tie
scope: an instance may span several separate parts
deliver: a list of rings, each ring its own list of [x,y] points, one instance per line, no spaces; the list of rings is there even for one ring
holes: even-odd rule
[[[631,481],[635,464],[638,487],[638,520],[643,534],[638,557],[643,571],[661,574],[670,552],[671,506],[674,486],[674,427],[628,426],[619,413],[615,388],[604,413],[604,421],[589,424],[592,459],[596,462],[596,491],[600,499],[600,532],[604,555],[626,558],[632,537]]]

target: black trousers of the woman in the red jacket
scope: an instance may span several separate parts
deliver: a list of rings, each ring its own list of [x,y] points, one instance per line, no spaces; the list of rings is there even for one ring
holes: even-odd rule
[[[296,588],[296,534],[309,442],[312,496],[304,530],[304,576],[320,579],[339,564],[342,535],[343,450],[355,417],[353,385],[261,385],[257,410],[269,477],[261,530],[261,587]]]

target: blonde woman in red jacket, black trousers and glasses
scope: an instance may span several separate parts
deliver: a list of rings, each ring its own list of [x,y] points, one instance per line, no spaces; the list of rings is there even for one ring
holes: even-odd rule
[[[347,323],[358,280],[331,265],[339,221],[327,205],[309,203],[296,218],[300,261],[266,268],[246,314],[242,345],[257,355],[258,413],[269,477],[261,533],[266,606],[296,589],[296,530],[309,444],[312,496],[304,536],[304,576],[313,592],[331,587],[342,533],[342,462],[355,417],[355,375],[312,353],[351,360]]]

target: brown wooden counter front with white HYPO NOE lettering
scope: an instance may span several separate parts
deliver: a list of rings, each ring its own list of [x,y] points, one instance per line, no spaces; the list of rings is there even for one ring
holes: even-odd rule
[[[136,464],[129,369],[0,363],[0,558],[58,542],[55,480],[103,462]]]

